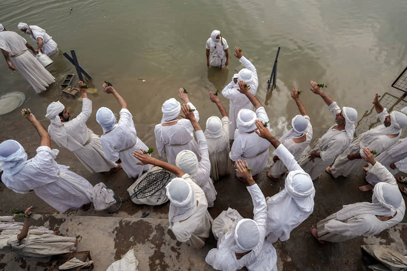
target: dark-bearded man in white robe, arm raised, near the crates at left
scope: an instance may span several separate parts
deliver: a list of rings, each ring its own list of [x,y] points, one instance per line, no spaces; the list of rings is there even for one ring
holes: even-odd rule
[[[100,137],[86,126],[86,122],[92,114],[92,101],[88,99],[86,89],[81,86],[83,86],[83,82],[79,81],[82,111],[72,120],[70,120],[70,112],[61,102],[49,104],[45,115],[51,122],[48,126],[48,134],[58,146],[72,151],[91,173],[110,169],[117,171],[121,166],[105,158]]]

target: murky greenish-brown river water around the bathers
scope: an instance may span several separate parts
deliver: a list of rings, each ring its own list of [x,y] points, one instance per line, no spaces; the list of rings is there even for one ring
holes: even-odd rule
[[[0,22],[8,30],[33,44],[17,29],[18,22],[27,21],[44,28],[60,51],[76,51],[79,63],[92,75],[98,89],[89,95],[94,112],[88,123],[96,133],[101,133],[95,122],[97,108],[107,106],[115,113],[120,110],[114,97],[102,91],[103,80],[107,80],[128,102],[139,136],[149,144],[154,143],[153,127],[161,120],[162,103],[178,98],[180,87],[190,93],[203,126],[207,117],[218,115],[207,93],[220,91],[242,68],[231,52],[235,45],[257,68],[256,96],[265,105],[276,136],[282,135],[287,120],[298,114],[290,98],[293,87],[304,90],[301,99],[311,117],[314,138],[332,125],[332,116],[322,99],[309,91],[310,80],[327,84],[324,90],[339,105],[354,107],[362,116],[371,108],[376,92],[401,95],[391,84],[407,65],[406,14],[405,0],[0,3]],[[208,70],[205,63],[205,42],[213,29],[221,30],[229,44],[229,66],[223,70]],[[267,93],[278,46],[277,88]],[[5,61],[0,61],[0,94],[23,92],[23,106],[31,108],[40,120],[44,119],[47,105],[55,100],[64,103],[72,115],[78,114],[79,96],[72,98],[60,91],[64,76],[75,73],[75,69],[62,54],[53,60],[49,70],[57,82],[41,95],[35,94],[18,72],[8,70]],[[221,97],[221,101],[227,109],[227,100]],[[22,121],[18,114],[15,110],[0,119],[18,124]],[[42,123],[48,125],[47,121]]]

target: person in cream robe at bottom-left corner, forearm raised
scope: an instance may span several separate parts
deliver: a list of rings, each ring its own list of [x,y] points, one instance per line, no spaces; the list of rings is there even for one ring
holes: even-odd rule
[[[59,236],[56,232],[31,229],[29,216],[31,208],[25,210],[22,229],[0,232],[0,252],[13,251],[18,256],[43,258],[76,251],[78,241],[75,237]]]

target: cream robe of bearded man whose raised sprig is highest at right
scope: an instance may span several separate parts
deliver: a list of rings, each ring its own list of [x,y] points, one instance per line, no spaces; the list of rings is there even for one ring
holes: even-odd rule
[[[333,114],[334,119],[336,114],[341,111],[336,102],[330,104],[328,109]],[[312,180],[318,178],[321,172],[324,172],[325,168],[331,165],[335,158],[349,146],[350,142],[345,129],[338,131],[333,129],[335,126],[333,125],[321,138],[317,139],[312,149],[307,147],[298,159],[301,168],[311,176]],[[314,162],[310,161],[308,155],[312,151],[320,152],[321,158],[315,157]]]

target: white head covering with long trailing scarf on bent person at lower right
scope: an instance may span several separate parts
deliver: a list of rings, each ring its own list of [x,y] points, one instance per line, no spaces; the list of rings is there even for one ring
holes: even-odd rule
[[[362,214],[393,216],[403,200],[399,188],[386,182],[379,182],[375,185],[373,191],[372,203],[359,202],[344,205],[343,208],[337,212],[337,218],[339,220],[345,220]]]

